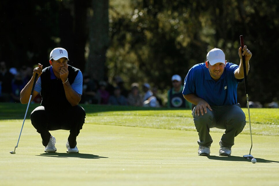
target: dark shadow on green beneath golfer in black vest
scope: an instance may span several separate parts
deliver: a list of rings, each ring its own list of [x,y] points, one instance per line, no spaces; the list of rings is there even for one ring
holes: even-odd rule
[[[100,158],[108,158],[108,157],[102,157],[98,155],[93,155],[93,154],[83,154],[83,153],[59,153],[59,152],[48,152],[48,153],[43,153],[40,155],[36,156],[45,156],[45,157],[57,157],[57,158],[84,158],[84,159],[100,159]]]

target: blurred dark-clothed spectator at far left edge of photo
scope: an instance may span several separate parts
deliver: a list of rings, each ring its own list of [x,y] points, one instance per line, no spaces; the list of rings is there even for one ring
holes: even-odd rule
[[[12,92],[12,79],[14,76],[8,71],[6,63],[4,61],[0,62],[0,85],[1,85],[1,94],[0,102],[9,102],[11,101],[11,92]]]

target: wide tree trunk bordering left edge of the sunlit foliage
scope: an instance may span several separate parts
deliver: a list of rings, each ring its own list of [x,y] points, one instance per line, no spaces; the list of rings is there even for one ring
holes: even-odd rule
[[[106,51],[109,43],[109,0],[92,0],[93,18],[89,23],[89,56],[86,63],[86,73],[93,79],[103,80]]]

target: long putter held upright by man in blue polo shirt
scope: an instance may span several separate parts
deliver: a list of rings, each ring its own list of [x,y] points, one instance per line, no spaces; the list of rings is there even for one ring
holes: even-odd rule
[[[240,36],[240,45],[241,45],[241,50],[242,50],[243,47],[244,47],[244,42],[243,42],[243,36],[242,35]],[[242,51],[241,51],[241,53],[242,53]],[[251,155],[253,141],[252,141],[251,120],[250,120],[250,109],[249,109],[248,84],[247,84],[247,73],[246,73],[245,56],[242,56],[242,63],[243,63],[243,71],[244,71],[244,84],[245,84],[245,93],[246,93],[246,99],[247,99],[248,116],[249,116],[249,127],[250,127],[250,136],[251,136],[250,152],[249,152],[248,155],[244,155],[243,158],[245,158],[245,159],[253,159],[254,157]]]

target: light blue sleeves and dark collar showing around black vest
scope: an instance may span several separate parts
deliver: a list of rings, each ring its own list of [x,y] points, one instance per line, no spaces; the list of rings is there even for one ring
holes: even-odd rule
[[[52,66],[50,67],[50,79],[57,79],[54,75]],[[82,81],[83,81],[82,73],[81,73],[81,71],[79,71],[77,73],[77,76],[76,76],[74,82],[71,85],[72,89],[75,90],[78,94],[81,94],[81,95],[82,95]],[[38,78],[34,90],[36,92],[41,92],[41,90],[42,90],[41,77]]]

